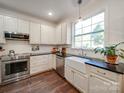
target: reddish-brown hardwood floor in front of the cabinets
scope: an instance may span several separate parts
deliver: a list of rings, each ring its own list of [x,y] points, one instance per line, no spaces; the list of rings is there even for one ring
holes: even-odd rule
[[[0,88],[0,93],[80,93],[55,71],[45,72],[31,78]]]

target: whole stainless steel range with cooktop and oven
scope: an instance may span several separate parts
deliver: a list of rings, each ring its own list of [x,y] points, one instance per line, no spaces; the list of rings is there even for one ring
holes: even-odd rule
[[[27,78],[30,73],[29,55],[3,56],[1,58],[2,84]]]

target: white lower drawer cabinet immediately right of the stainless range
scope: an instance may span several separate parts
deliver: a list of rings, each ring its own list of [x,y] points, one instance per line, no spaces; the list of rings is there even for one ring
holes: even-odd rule
[[[51,55],[40,55],[30,57],[30,74],[37,74],[52,69]]]

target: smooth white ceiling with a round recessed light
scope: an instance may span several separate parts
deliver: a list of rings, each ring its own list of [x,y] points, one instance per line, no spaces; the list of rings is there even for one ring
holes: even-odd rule
[[[77,7],[76,3],[77,0],[0,0],[0,6],[4,8],[54,23],[74,15]],[[53,16],[48,16],[48,12],[52,12]]]

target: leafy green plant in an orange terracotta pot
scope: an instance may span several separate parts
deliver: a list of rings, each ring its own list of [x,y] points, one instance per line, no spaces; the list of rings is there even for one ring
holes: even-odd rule
[[[115,64],[118,57],[124,58],[124,49],[118,49],[117,47],[124,42],[120,42],[115,45],[107,46],[104,48],[97,47],[94,49],[95,53],[101,53],[106,56],[109,63]]]

